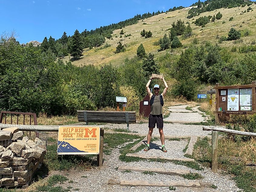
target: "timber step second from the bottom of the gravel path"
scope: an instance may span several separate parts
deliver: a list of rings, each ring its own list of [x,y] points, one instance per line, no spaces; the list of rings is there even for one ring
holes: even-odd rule
[[[185,170],[185,169],[164,169],[164,168],[136,167],[136,166],[119,166],[118,170],[130,170],[130,171],[138,171],[138,172],[152,171],[160,174],[178,175],[178,176],[190,174],[190,170]]]

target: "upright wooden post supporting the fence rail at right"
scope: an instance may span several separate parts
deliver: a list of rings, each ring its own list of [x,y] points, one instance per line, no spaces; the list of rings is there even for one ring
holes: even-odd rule
[[[211,170],[218,172],[218,131],[211,131]]]

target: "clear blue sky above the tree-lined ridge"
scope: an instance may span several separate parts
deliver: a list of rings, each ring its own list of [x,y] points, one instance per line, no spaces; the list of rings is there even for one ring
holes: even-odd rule
[[[64,31],[73,35],[153,11],[166,11],[174,6],[188,7],[197,0],[0,0],[0,35],[15,31],[17,41],[42,42],[50,35],[61,38]]]

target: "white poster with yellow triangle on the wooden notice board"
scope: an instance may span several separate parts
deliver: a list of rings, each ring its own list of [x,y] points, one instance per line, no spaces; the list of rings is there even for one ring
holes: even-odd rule
[[[239,89],[228,89],[228,111],[239,110]]]

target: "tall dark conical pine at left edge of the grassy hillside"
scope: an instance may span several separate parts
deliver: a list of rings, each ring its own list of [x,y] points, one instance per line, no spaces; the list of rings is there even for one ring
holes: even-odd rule
[[[82,51],[83,51],[82,38],[79,31],[76,29],[71,39],[70,53],[71,53],[71,56],[73,56],[76,60],[76,58],[79,58],[83,55]]]

